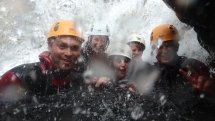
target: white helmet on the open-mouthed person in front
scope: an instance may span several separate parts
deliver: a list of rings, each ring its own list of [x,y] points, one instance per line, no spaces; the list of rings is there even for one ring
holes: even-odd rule
[[[111,46],[108,56],[121,55],[132,59],[132,52],[130,47],[125,43],[116,43]]]

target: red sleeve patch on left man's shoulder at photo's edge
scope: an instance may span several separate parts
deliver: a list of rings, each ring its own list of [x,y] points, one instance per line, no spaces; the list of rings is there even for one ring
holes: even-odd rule
[[[2,89],[4,89],[5,87],[13,84],[19,85],[19,79],[12,71],[8,71],[3,74],[0,79],[0,92],[2,92]]]

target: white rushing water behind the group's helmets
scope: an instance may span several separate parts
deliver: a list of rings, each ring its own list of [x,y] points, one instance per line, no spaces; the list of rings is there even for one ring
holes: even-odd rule
[[[0,51],[2,52],[0,75],[14,66],[38,61],[38,55],[47,50],[48,30],[52,23],[59,19],[79,21],[83,28],[77,28],[80,32],[82,31],[85,38],[88,36],[86,35],[89,31],[87,28],[93,21],[106,20],[111,32],[110,44],[125,40],[131,33],[141,34],[146,40],[146,50],[142,58],[147,62],[153,60],[149,54],[149,33],[159,24],[171,23],[178,28],[182,37],[179,54],[202,61],[208,56],[208,53],[199,46],[193,29],[187,29],[187,26],[181,23],[174,12],[162,1],[4,0],[0,2],[0,5],[0,22],[2,23],[0,25],[2,28],[0,30],[0,32],[2,31],[0,34],[2,38],[0,40]],[[29,38],[34,39],[31,41]],[[195,53],[192,53],[193,51]]]

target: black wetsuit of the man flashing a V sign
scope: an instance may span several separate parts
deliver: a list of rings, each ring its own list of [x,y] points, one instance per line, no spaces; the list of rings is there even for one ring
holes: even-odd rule
[[[195,95],[191,82],[179,72],[179,69],[187,71],[187,65],[200,75],[208,75],[208,68],[195,59],[178,57],[171,66],[156,63],[161,73],[155,82],[152,95],[155,95],[156,99],[160,101],[161,109],[167,114],[171,114],[172,118],[198,121],[214,120],[215,103],[207,99],[206,95],[202,95],[203,97],[200,98],[199,92],[196,92],[197,95]]]

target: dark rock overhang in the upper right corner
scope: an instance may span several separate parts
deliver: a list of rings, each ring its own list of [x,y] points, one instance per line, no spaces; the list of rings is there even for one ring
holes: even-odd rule
[[[178,19],[194,27],[199,44],[210,53],[210,66],[215,67],[215,1],[163,0],[174,10]]]

